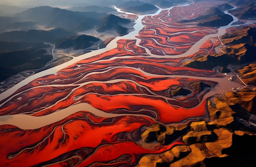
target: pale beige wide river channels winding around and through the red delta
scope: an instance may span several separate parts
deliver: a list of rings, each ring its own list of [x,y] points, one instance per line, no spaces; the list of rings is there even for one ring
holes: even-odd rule
[[[187,5],[189,5],[189,4],[180,5],[180,6],[187,6]],[[171,8],[173,8],[173,7],[171,7]],[[168,9],[171,9],[171,8],[168,8]],[[235,9],[235,7],[234,7],[234,9]],[[162,10],[164,10],[164,9],[159,9],[156,13],[153,13],[153,14],[150,14],[150,15],[151,16],[157,15]],[[117,11],[119,11],[119,9],[117,9]],[[225,13],[229,14],[227,11],[225,11]],[[6,103],[9,99],[11,99],[12,97],[15,97],[16,95],[22,93],[22,92],[18,92],[16,94],[13,94],[19,88],[21,88],[22,86],[27,85],[29,82],[33,81],[34,79],[44,77],[44,76],[50,75],[50,74],[55,74],[58,70],[61,70],[65,67],[67,67],[67,66],[70,66],[71,64],[74,64],[74,63],[76,63],[76,62],[78,62],[82,59],[86,59],[88,57],[93,57],[95,55],[99,55],[99,54],[104,53],[108,50],[116,48],[117,47],[117,41],[121,40],[121,39],[137,40],[136,45],[139,46],[139,47],[144,48],[147,52],[146,53],[147,55],[150,55],[151,57],[156,57],[156,58],[163,57],[162,55],[154,55],[154,54],[150,53],[148,48],[146,48],[144,46],[141,46],[139,44],[141,42],[141,40],[136,37],[136,36],[138,36],[139,31],[141,29],[143,29],[143,27],[144,27],[144,25],[142,24],[142,19],[145,16],[150,16],[150,15],[148,15],[148,14],[147,15],[139,15],[138,19],[135,21],[134,31],[130,32],[127,35],[124,35],[124,36],[121,36],[121,37],[116,37],[114,40],[112,40],[106,46],[106,48],[95,50],[95,51],[92,51],[90,53],[80,55],[79,57],[74,57],[69,62],[66,62],[66,63],[61,64],[59,66],[56,66],[54,68],[44,70],[44,71],[42,71],[40,73],[37,73],[35,75],[32,75],[31,77],[29,77],[27,79],[24,79],[20,83],[16,84],[15,86],[10,88],[9,90],[7,90],[5,92],[2,92],[2,94],[0,94],[0,101],[2,101],[3,99],[5,99],[7,97],[9,97],[9,98],[5,102],[0,104],[0,107],[4,103]],[[229,15],[231,15],[231,14],[229,14]],[[200,46],[202,46],[209,38],[222,36],[226,33],[226,29],[228,29],[232,26],[240,26],[241,25],[241,24],[232,25],[234,22],[237,22],[238,19],[236,17],[234,17],[234,15],[231,15],[231,16],[234,18],[234,20],[230,24],[228,24],[227,26],[220,27],[218,29],[218,33],[205,35],[198,42],[193,44],[193,46],[186,53],[183,53],[183,54],[180,54],[180,55],[164,55],[164,57],[179,58],[179,57],[186,57],[186,56],[195,54],[199,50]],[[118,57],[118,58],[120,58],[120,57]],[[125,58],[125,57],[123,57],[123,58]],[[111,58],[111,59],[115,59],[115,57]],[[109,59],[99,60],[99,61],[108,61],[108,60]],[[131,68],[131,67],[129,67],[129,68]],[[150,73],[147,73],[147,72],[145,72],[141,69],[137,69],[137,68],[136,68],[136,70],[141,71],[141,73],[143,73],[146,76],[152,76],[152,77],[163,76],[163,75],[150,74]],[[208,97],[211,97],[214,94],[219,94],[220,92],[223,92],[223,91],[229,91],[229,90],[231,90],[231,88],[241,87],[241,85],[239,85],[238,83],[228,81],[228,77],[226,77],[226,76],[224,76],[222,78],[215,78],[215,77],[196,77],[196,76],[187,76],[187,75],[165,75],[165,77],[184,77],[184,78],[204,79],[204,80],[218,82],[217,86],[215,86],[214,88],[211,88],[211,91],[209,91],[207,94],[204,95],[204,99],[208,98]],[[111,83],[111,82],[118,82],[118,81],[122,81],[122,79],[117,79],[115,81],[106,81],[104,83]],[[83,83],[83,85],[88,84],[88,83],[89,82]],[[53,85],[53,86],[62,86],[62,85]],[[68,108],[65,108],[63,110],[58,110],[58,111],[56,111],[52,114],[48,114],[48,115],[45,115],[45,116],[31,116],[31,115],[27,115],[27,114],[14,114],[14,115],[0,116],[0,125],[7,125],[8,124],[8,125],[15,125],[17,127],[20,127],[21,129],[37,129],[37,128],[43,127],[45,125],[49,125],[51,123],[54,123],[54,122],[60,121],[62,119],[65,119],[67,116],[69,116],[71,114],[74,114],[76,112],[79,112],[82,108],[86,108],[86,110],[90,111],[91,113],[96,114],[98,116],[102,116],[102,117],[115,117],[115,116],[120,116],[120,115],[127,115],[127,114],[106,113],[106,112],[103,112],[101,110],[98,110],[97,108],[92,107],[88,103],[78,103],[78,104],[74,104],[74,105],[72,105]],[[27,122],[29,122],[29,124]]]

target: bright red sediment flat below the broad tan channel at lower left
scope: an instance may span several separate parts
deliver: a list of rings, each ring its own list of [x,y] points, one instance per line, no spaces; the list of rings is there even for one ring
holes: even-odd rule
[[[82,166],[100,161],[106,162],[126,154],[132,157],[127,165],[134,165],[144,154],[157,154],[174,145],[182,144],[175,142],[168,146],[158,145],[146,149],[130,141],[128,134],[133,134],[132,138],[137,138],[139,137],[137,130],[152,123],[154,122],[146,117],[120,116],[106,119],[88,112],[79,112],[38,130],[20,130],[11,127],[12,130],[0,133],[2,152],[0,165],[19,166],[22,163],[24,166],[33,166],[43,161],[50,162],[55,157],[60,157],[61,160],[61,155],[68,151],[90,147],[97,151],[83,155],[82,158],[85,160],[81,163]],[[19,145],[12,147],[12,143]],[[101,160],[98,159],[99,156]],[[28,158],[30,160],[27,160]]]

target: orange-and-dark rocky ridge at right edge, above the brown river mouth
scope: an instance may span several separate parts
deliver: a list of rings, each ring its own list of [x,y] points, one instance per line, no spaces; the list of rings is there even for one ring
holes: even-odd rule
[[[183,65],[193,68],[212,69],[216,66],[227,67],[230,63],[243,64],[254,60],[256,50],[256,28],[252,27],[233,27],[220,39],[224,48],[222,52],[213,55],[195,56],[193,61]]]

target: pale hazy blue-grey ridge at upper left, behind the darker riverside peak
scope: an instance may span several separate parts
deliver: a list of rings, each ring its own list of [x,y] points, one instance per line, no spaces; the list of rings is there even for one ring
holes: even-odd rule
[[[19,17],[20,21],[34,21],[44,25],[46,28],[63,27],[66,30],[84,31],[92,29],[98,23],[97,18],[104,15],[107,15],[107,13],[75,12],[43,6],[28,9],[27,11],[17,13],[15,16]],[[84,26],[85,24],[87,26]]]

